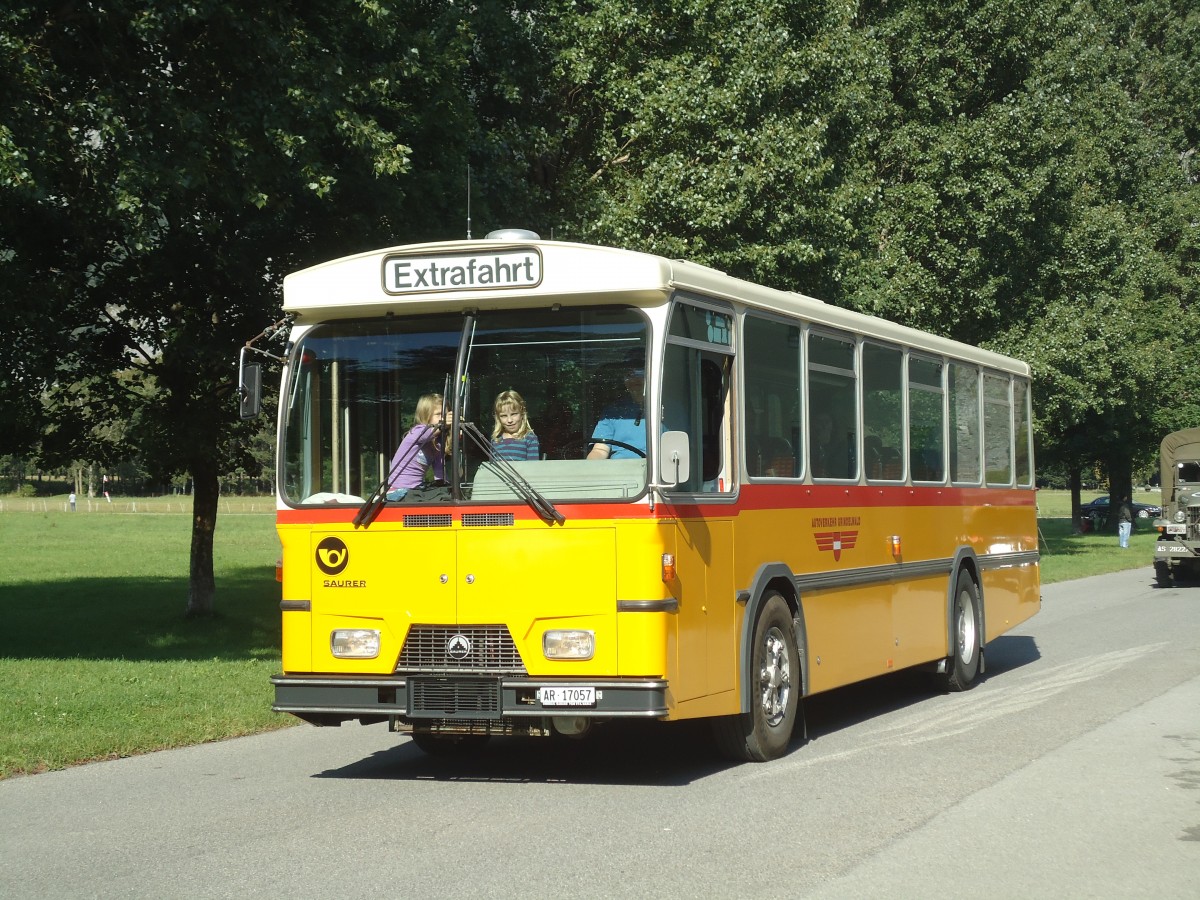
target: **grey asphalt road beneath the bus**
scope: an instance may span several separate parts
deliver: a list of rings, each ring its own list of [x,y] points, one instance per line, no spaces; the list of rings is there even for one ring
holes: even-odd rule
[[[974,690],[814,697],[766,764],[305,726],[4,781],[0,896],[1200,898],[1200,586],[1043,595]]]

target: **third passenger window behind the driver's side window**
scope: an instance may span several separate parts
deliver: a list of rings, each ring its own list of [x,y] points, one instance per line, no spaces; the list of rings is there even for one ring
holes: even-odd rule
[[[904,353],[863,344],[863,469],[868,481],[904,479]]]

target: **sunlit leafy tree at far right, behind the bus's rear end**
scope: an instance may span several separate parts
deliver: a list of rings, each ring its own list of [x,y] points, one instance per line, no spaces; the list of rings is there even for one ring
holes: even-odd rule
[[[1196,79],[1148,77],[1195,68],[1190,44],[1166,49],[1168,6],[900,2],[871,18],[892,106],[864,224],[877,252],[845,280],[850,302],[1030,360],[1042,457],[1102,463],[1114,492],[1157,445],[1180,396],[1151,388],[1177,384],[1196,336],[1196,193],[1178,164]]]

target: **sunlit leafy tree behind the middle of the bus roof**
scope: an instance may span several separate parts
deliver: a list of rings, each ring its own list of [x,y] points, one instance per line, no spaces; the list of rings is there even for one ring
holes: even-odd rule
[[[564,233],[839,293],[875,199],[853,146],[881,77],[845,7],[812,0],[554,4]]]

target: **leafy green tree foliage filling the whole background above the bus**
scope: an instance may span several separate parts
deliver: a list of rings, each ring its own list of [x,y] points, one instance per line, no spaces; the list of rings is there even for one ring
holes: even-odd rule
[[[1027,359],[1040,457],[1120,492],[1200,421],[1198,48],[1188,0],[10,5],[0,451],[191,472],[203,576],[283,274],[462,234],[469,167],[476,233]]]

